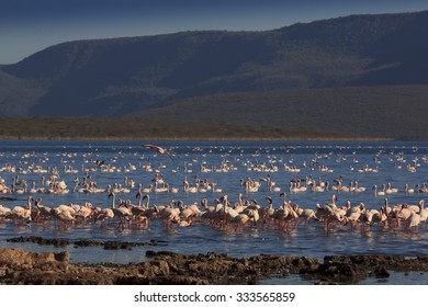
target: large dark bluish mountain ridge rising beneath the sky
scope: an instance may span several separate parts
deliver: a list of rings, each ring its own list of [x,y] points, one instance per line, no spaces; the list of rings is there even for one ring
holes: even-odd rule
[[[281,93],[289,98],[282,100],[284,114],[288,101],[297,101],[293,107],[302,109],[297,113],[305,122],[309,118],[304,110],[318,94],[328,101],[334,89],[354,89],[335,99],[337,105],[382,103],[384,112],[396,112],[415,96],[428,96],[427,38],[428,11],[423,11],[350,15],[263,32],[68,42],[0,66],[0,116],[158,116],[185,122],[184,106],[198,110],[199,101],[210,101],[209,115],[226,121],[230,116],[224,116],[225,107],[237,106],[237,96],[257,98],[252,103],[273,110]],[[406,94],[395,99],[399,107],[388,109],[384,100],[394,88]],[[219,95],[227,103],[212,99]],[[417,110],[419,116],[428,111]],[[246,112],[241,117],[249,124],[246,118],[255,117],[257,107],[248,111],[240,104],[237,112]]]

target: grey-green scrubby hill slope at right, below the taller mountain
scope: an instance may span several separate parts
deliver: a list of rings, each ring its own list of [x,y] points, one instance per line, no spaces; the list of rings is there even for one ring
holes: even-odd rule
[[[135,114],[137,118],[247,127],[279,127],[286,138],[428,139],[428,86],[243,92],[184,99]],[[305,132],[305,133],[303,133]]]

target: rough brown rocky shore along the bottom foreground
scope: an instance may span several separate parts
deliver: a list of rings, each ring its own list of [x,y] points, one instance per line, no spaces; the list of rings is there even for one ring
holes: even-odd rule
[[[138,285],[258,284],[272,276],[300,274],[314,284],[356,284],[368,277],[388,277],[390,271],[426,274],[428,257],[326,255],[316,258],[260,254],[233,258],[225,253],[178,254],[146,252],[149,261],[131,264],[69,263],[68,252],[0,249],[3,285]]]

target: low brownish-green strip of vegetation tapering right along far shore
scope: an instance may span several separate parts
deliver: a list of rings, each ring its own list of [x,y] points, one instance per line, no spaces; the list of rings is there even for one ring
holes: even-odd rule
[[[142,122],[111,118],[24,118],[0,121],[0,139],[328,139],[352,138],[291,127]]]

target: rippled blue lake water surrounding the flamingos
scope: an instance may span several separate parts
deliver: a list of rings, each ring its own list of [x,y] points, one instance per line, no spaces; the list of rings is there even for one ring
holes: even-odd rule
[[[374,195],[373,185],[391,184],[397,193],[387,194],[390,205],[397,203],[417,204],[426,194],[406,193],[409,187],[423,186],[428,181],[428,143],[404,141],[159,141],[157,145],[173,152],[173,160],[166,155],[144,148],[144,141],[1,141],[0,177],[11,186],[18,180],[26,180],[29,190],[34,181],[42,186],[42,179],[48,179],[57,170],[57,181],[65,181],[69,193],[34,194],[42,196],[42,204],[55,207],[60,204],[86,202],[102,208],[111,206],[106,193],[86,194],[72,192],[76,178],[82,182],[95,181],[99,187],[109,184],[122,184],[134,181],[129,193],[117,197],[136,202],[137,185],[148,187],[154,183],[156,173],[161,174],[170,187],[179,189],[178,193],[151,192],[150,204],[168,204],[171,200],[184,204],[200,203],[207,198],[213,205],[215,198],[227,194],[230,203],[238,201],[239,193],[245,200],[256,200],[267,206],[266,196],[271,196],[274,207],[282,203],[281,192],[286,198],[303,208],[315,208],[317,203],[326,204],[337,194],[339,205],[350,201],[352,205],[360,202],[367,208],[380,208],[385,196]],[[109,172],[100,169],[92,171],[97,160],[103,160]],[[297,169],[300,172],[297,172]],[[364,169],[364,171],[361,171]],[[36,171],[38,170],[38,171]],[[203,171],[205,170],[205,171]],[[223,170],[223,171],[221,171]],[[294,170],[294,171],[293,171]],[[43,172],[46,171],[46,172]],[[193,184],[195,175],[200,180],[215,182],[222,192],[185,193],[184,178]],[[280,191],[271,192],[266,183],[270,177]],[[248,178],[260,182],[255,193],[246,193],[241,182]],[[335,186],[335,180],[341,179],[347,186],[358,182],[367,187],[364,192],[306,192],[289,191],[290,182],[302,179],[314,179],[328,182]],[[262,180],[260,180],[262,179]],[[25,205],[29,194],[3,194],[18,198],[1,201],[8,207]],[[233,257],[249,257],[260,253],[307,255],[323,259],[327,254],[367,254],[392,253],[408,257],[427,254],[427,227],[420,225],[417,231],[385,230],[374,226],[369,231],[360,228],[337,227],[334,231],[311,221],[308,227],[302,223],[297,228],[284,231],[277,228],[246,228],[238,231],[225,231],[204,223],[190,227],[176,227],[167,230],[159,220],[153,220],[148,228],[131,227],[120,229],[101,227],[88,223],[75,225],[68,229],[55,227],[54,224],[14,225],[10,220],[0,221],[0,247],[22,248],[32,251],[70,252],[71,262],[114,262],[129,263],[145,261],[147,250],[168,250],[178,253],[226,252]],[[69,245],[65,248],[38,246],[35,243],[13,243],[10,238],[20,236],[40,236],[44,238],[64,238],[69,240],[115,240],[127,242],[148,242],[157,240],[161,246],[135,247],[132,250],[104,250],[101,247],[77,248]],[[368,280],[364,283],[410,283],[428,284],[428,274],[397,273],[387,281]],[[271,281],[275,283],[274,280]],[[297,280],[280,280],[279,283],[305,283]]]

